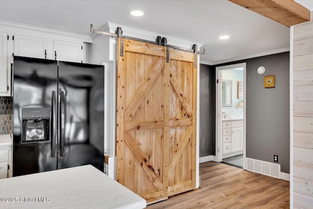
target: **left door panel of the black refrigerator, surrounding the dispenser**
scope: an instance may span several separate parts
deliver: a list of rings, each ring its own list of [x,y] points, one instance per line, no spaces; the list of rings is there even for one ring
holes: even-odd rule
[[[21,137],[22,108],[52,108],[52,91],[57,91],[57,61],[15,56],[13,77],[13,176],[55,170],[57,158],[51,158],[49,134],[45,141],[29,143],[21,143]],[[51,113],[47,120],[45,129],[50,129]],[[37,121],[34,128],[38,124],[41,123]]]

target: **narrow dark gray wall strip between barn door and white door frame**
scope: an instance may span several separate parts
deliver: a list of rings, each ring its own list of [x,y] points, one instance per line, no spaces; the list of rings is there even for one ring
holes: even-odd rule
[[[212,70],[200,64],[200,157],[212,155]]]

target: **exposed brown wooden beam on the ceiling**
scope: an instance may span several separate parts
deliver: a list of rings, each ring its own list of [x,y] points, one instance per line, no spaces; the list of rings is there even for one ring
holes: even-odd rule
[[[288,27],[310,21],[310,10],[294,0],[229,0]]]

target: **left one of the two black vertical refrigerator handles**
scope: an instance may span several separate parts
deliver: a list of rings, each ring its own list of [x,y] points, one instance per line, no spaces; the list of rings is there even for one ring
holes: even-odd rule
[[[51,101],[51,158],[55,158],[55,151],[57,148],[57,98],[55,91],[52,91],[52,101]]]

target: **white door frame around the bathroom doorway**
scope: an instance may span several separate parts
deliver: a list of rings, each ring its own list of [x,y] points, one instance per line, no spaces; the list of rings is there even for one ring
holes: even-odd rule
[[[239,63],[234,65],[221,66],[216,68],[216,79],[219,80],[219,83],[216,82],[216,161],[221,162],[223,160],[223,138],[222,138],[222,99],[220,94],[222,93],[222,70],[230,70],[235,68],[244,68],[244,159],[243,159],[243,168],[246,170],[246,63]]]

